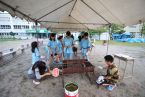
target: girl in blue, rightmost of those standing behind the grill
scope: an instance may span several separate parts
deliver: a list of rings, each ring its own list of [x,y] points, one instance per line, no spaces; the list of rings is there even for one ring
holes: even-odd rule
[[[87,32],[84,33],[83,38],[80,41],[80,48],[82,56],[87,58],[87,52],[90,50],[90,41]]]

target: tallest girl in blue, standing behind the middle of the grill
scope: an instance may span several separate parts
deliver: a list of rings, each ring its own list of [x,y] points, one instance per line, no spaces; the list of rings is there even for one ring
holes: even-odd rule
[[[66,37],[63,40],[63,46],[64,46],[64,58],[65,59],[71,59],[73,55],[73,38],[71,37],[70,31],[66,32]]]

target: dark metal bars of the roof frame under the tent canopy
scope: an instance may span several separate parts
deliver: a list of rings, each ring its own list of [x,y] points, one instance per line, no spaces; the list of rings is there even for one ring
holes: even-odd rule
[[[65,24],[65,23],[66,23],[66,24],[83,24],[83,25],[85,25],[85,24],[86,24],[86,25],[109,25],[109,24],[110,24],[110,22],[109,22],[108,20],[106,20],[102,15],[100,15],[100,14],[99,14],[97,11],[95,11],[92,7],[90,7],[86,2],[84,2],[84,0],[81,0],[81,2],[83,2],[83,3],[86,5],[86,7],[90,8],[96,15],[98,15],[98,16],[101,17],[104,21],[106,21],[106,22],[107,22],[106,24],[98,24],[98,23],[81,23],[81,22],[79,22],[78,20],[77,20],[77,21],[78,21],[79,23],[71,23],[71,22],[69,23],[69,22],[59,22],[59,21],[41,21],[41,20],[40,20],[40,19],[42,19],[42,18],[48,16],[49,14],[54,13],[55,11],[61,9],[62,7],[68,5],[69,3],[72,3],[73,1],[75,1],[75,2],[74,2],[74,5],[73,5],[73,7],[72,7],[72,9],[71,9],[71,11],[70,11],[70,14],[69,14],[69,16],[71,16],[71,13],[72,13],[72,11],[74,10],[74,7],[75,7],[75,5],[76,5],[76,3],[77,3],[77,0],[71,0],[71,1],[69,1],[69,2],[66,2],[65,4],[63,4],[63,5],[59,6],[59,7],[57,7],[56,9],[53,9],[52,11],[50,11],[50,12],[44,14],[43,16],[41,16],[41,17],[39,17],[39,18],[37,18],[37,19],[31,18],[30,15],[27,15],[27,14],[25,14],[25,13],[19,11],[17,8],[14,8],[14,7],[10,6],[9,4],[6,4],[6,3],[3,2],[3,1],[0,1],[0,3],[3,4],[3,5],[5,5],[6,7],[10,8],[10,9],[12,9],[14,12],[18,12],[19,14],[21,14],[21,15],[23,15],[24,17],[30,19],[31,21],[33,21],[33,22],[38,22],[38,23],[40,23],[40,24],[41,24],[41,22],[47,22],[47,23],[64,23],[64,24]],[[72,16],[71,16],[71,17],[72,17]],[[74,17],[72,17],[72,18],[74,19]],[[76,20],[76,19],[75,19],[75,20]],[[46,28],[47,28],[47,27],[46,27]]]

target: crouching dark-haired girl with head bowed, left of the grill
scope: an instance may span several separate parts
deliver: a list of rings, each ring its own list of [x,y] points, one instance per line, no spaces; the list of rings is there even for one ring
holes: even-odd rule
[[[51,75],[48,71],[48,68],[43,61],[37,61],[32,66],[32,68],[28,71],[29,78],[33,79],[34,84],[40,84],[40,80],[45,77]]]

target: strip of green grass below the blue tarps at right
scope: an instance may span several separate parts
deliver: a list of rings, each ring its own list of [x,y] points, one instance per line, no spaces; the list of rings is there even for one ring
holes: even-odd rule
[[[103,41],[95,41],[95,44],[102,44]],[[137,46],[137,47],[145,47],[145,43],[128,43],[128,42],[117,42],[110,40],[109,44],[111,45],[121,45],[121,46]]]

